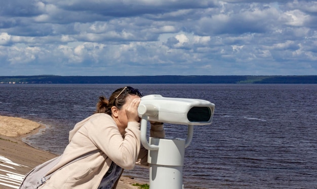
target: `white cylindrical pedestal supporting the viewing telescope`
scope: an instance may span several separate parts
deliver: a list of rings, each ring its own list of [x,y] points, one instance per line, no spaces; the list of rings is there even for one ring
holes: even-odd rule
[[[150,189],[182,189],[185,140],[150,137],[149,144],[159,146],[148,153]]]

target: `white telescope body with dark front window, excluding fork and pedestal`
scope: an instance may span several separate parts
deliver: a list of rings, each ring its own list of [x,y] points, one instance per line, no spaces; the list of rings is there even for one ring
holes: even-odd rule
[[[209,125],[212,122],[215,104],[201,99],[168,98],[147,95],[141,98],[139,117],[148,121],[180,125]]]

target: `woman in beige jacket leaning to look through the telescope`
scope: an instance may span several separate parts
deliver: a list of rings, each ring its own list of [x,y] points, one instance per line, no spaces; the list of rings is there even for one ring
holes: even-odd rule
[[[115,90],[109,100],[99,97],[95,114],[69,132],[61,161],[50,172],[93,154],[57,170],[39,188],[115,188],[124,169],[132,169],[136,162],[147,165],[137,112],[142,96],[138,89],[125,87]],[[163,123],[151,123],[150,135],[164,137]]]

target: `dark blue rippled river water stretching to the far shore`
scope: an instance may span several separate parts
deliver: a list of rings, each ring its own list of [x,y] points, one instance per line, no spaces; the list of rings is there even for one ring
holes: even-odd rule
[[[0,85],[0,115],[46,125],[25,142],[62,154],[68,132],[92,115],[100,95],[125,85]],[[198,98],[216,105],[185,149],[184,188],[317,188],[317,85],[129,84],[145,95]],[[165,125],[167,137],[187,127]],[[136,167],[126,175],[148,180]]]

